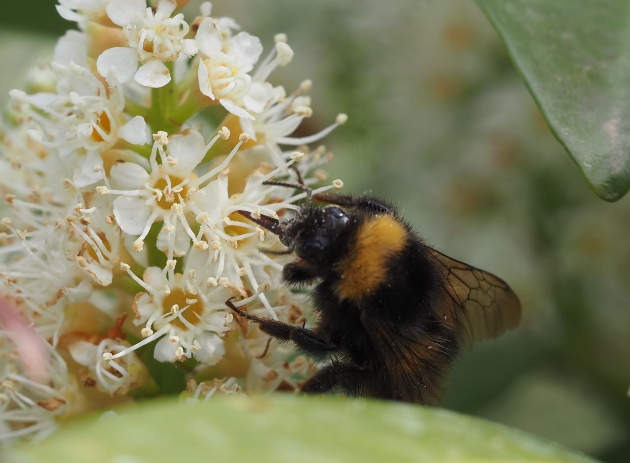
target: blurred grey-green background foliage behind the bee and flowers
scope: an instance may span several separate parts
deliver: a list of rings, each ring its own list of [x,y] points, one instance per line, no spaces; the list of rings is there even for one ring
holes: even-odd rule
[[[71,26],[55,3],[3,5],[3,104]],[[473,1],[220,0],[214,15],[267,48],[287,33],[295,58],[271,81],[314,81],[301,132],[347,112],[326,140],[347,192],[394,199],[429,243],[520,296],[520,328],[461,356],[445,406],[629,461],[630,199],[588,189]]]

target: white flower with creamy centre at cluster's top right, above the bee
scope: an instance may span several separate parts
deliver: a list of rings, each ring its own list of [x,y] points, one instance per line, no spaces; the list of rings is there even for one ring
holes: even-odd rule
[[[213,18],[205,18],[199,26],[199,90],[212,100],[218,99],[232,114],[255,119],[252,113],[262,112],[272,98],[273,87],[264,80],[275,66],[287,64],[293,52],[289,45],[278,42],[275,52],[252,77],[249,72],[263,52],[260,39],[247,32],[232,37],[230,26]]]

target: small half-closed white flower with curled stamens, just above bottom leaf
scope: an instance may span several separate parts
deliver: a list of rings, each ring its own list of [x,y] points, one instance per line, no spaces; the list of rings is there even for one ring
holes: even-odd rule
[[[127,341],[106,338],[98,345],[76,341],[69,346],[69,351],[74,361],[88,367],[89,377],[83,378],[84,384],[96,382],[99,390],[111,396],[123,396],[144,380],[145,368],[133,353],[116,360],[106,360],[103,355],[113,356],[127,348]]]

